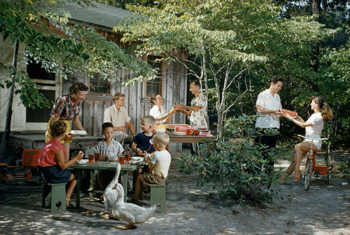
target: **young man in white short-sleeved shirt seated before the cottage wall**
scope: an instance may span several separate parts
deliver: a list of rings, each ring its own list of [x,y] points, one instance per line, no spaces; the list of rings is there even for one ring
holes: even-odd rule
[[[123,145],[125,138],[127,138],[127,128],[125,124],[127,124],[127,127],[129,128],[133,138],[136,136],[136,134],[134,131],[134,126],[130,121],[129,114],[124,108],[125,94],[116,92],[116,94],[113,95],[113,101],[114,105],[104,111],[104,122],[111,122],[113,124],[115,131],[113,138],[115,138],[116,141],[119,141],[119,143]]]

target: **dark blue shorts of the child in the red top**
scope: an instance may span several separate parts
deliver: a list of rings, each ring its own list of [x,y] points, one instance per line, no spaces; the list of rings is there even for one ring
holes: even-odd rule
[[[38,168],[40,177],[45,183],[67,183],[71,178],[69,169],[60,169],[58,165]]]

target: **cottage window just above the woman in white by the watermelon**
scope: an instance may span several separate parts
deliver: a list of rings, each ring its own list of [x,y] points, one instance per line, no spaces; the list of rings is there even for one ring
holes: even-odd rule
[[[147,62],[151,64],[152,68],[158,68],[158,73],[155,74],[154,80],[148,80],[146,82],[146,97],[151,97],[153,94],[162,95],[162,79],[163,79],[163,62],[155,62],[155,59],[162,59],[162,57],[155,55],[148,55]]]

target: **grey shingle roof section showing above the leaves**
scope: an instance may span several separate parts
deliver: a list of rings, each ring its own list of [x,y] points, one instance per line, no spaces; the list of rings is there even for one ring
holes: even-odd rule
[[[64,6],[64,10],[71,13],[71,20],[77,20],[80,22],[86,22],[90,24],[98,24],[104,27],[113,28],[121,20],[125,20],[125,17],[140,15],[134,15],[129,10],[123,10],[114,6],[108,6],[102,3],[92,2],[94,6],[82,7],[78,3],[67,3]]]

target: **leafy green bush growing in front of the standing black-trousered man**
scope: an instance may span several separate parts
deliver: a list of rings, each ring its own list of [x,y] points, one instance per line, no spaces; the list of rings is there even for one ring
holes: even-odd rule
[[[181,157],[178,169],[186,174],[198,173],[200,185],[213,186],[222,197],[244,201],[272,201],[278,195],[271,186],[279,183],[279,173],[266,171],[268,160],[276,161],[281,149],[268,152],[269,159],[262,157],[264,145],[254,143],[256,116],[243,115],[229,118],[222,127],[223,137],[200,145],[207,155]],[[267,129],[267,134],[276,134]]]

